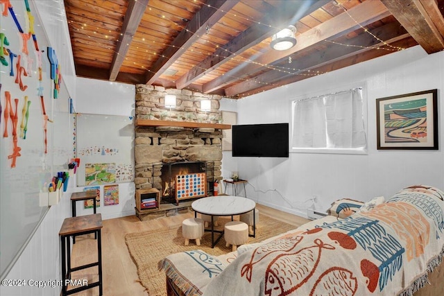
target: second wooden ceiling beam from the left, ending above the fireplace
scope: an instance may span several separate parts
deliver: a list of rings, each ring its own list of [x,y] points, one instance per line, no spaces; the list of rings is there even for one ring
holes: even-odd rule
[[[145,81],[151,85],[162,73],[167,70],[182,53],[187,51],[194,42],[200,39],[200,35],[205,34],[207,26],[216,24],[225,14],[230,11],[239,0],[209,0],[201,8],[193,19],[189,21],[187,27],[169,44],[160,58],[153,64],[153,67],[146,73]]]

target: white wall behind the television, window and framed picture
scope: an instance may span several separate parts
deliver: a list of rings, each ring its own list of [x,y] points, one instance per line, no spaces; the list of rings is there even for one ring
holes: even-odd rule
[[[239,171],[248,180],[248,198],[294,214],[307,214],[313,195],[316,209],[339,198],[370,200],[411,184],[444,189],[444,52],[427,55],[420,46],[352,67],[242,98],[238,123],[290,122],[291,99],[350,89],[365,82],[368,107],[368,155],[290,153],[288,159],[231,157],[223,154],[224,177]],[[439,150],[377,150],[376,98],[438,89]],[[225,104],[221,105],[224,110]],[[228,173],[228,175],[225,175]]]

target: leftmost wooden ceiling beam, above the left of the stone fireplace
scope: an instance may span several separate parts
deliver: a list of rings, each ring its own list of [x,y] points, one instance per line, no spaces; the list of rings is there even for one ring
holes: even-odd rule
[[[117,42],[116,50],[112,56],[112,63],[109,73],[109,80],[115,81],[119,75],[120,67],[123,64],[126,53],[133,42],[133,37],[139,27],[140,20],[142,19],[146,6],[148,6],[148,0],[129,0],[128,8],[123,19],[121,38]]]

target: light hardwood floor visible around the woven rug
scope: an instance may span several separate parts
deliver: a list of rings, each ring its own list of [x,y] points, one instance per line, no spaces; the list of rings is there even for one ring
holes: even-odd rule
[[[271,216],[282,222],[293,224],[296,227],[308,220],[292,214],[278,211],[270,207],[257,204],[260,214]],[[188,211],[176,216],[162,216],[153,220],[140,221],[136,216],[103,220],[102,229],[102,270],[103,295],[106,296],[139,296],[148,295],[145,288],[139,284],[137,268],[131,258],[125,243],[125,235],[132,232],[146,232],[163,227],[176,227],[185,218],[194,217],[194,212]],[[83,265],[97,261],[97,247],[94,236],[78,236],[72,250],[72,266]],[[88,268],[73,272],[72,279],[87,279],[89,283],[97,280],[97,268]],[[99,288],[92,288],[78,296],[99,295]]]

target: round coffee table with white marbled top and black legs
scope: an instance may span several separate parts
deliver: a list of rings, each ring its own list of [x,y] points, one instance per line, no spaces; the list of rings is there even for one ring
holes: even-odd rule
[[[253,237],[256,237],[256,220],[255,220],[255,207],[256,202],[249,200],[248,198],[243,198],[239,196],[232,195],[221,195],[221,196],[210,196],[208,198],[200,198],[195,200],[191,204],[191,208],[194,210],[194,216],[197,213],[205,214],[211,216],[211,247],[214,247],[216,243],[223,236],[223,230],[215,230],[213,217],[214,216],[231,216],[233,220],[234,215],[240,215],[253,211]],[[214,241],[214,232],[219,233],[219,237]]]

